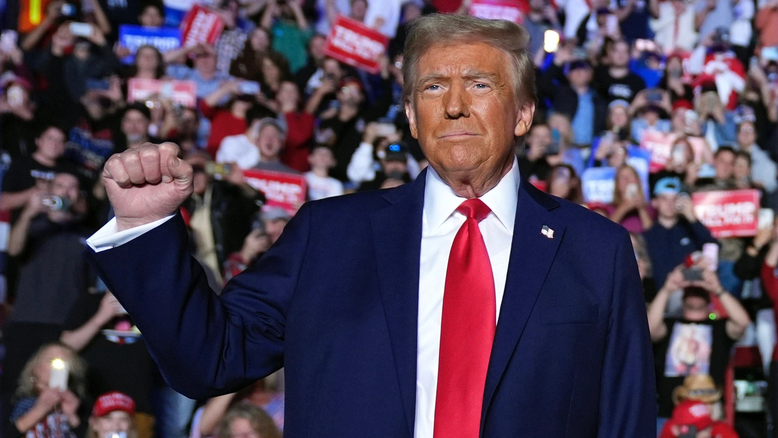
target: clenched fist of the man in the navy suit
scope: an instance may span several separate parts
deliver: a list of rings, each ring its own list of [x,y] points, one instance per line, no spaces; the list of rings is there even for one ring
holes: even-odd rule
[[[107,160],[103,183],[120,231],[172,215],[192,193],[192,167],[178,151],[170,142],[145,143]]]

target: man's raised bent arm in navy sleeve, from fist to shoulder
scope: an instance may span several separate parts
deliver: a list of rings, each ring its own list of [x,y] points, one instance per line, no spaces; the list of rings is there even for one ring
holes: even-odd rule
[[[113,230],[88,240],[96,251],[87,256],[143,333],[170,386],[189,398],[209,398],[282,366],[286,309],[310,216],[303,206],[261,260],[216,295],[176,214],[192,192],[191,166],[177,153],[172,143],[144,145],[108,160],[103,181],[116,219],[103,227]],[[161,224],[122,238],[122,230],[152,223]],[[100,237],[110,231],[117,233]]]

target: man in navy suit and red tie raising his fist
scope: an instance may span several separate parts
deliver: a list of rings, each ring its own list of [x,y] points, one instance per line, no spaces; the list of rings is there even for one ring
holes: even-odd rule
[[[524,180],[526,31],[415,20],[411,184],[308,202],[216,295],[177,214],[175,145],[112,156],[116,219],[90,258],[170,385],[206,398],[286,370],[286,430],[385,438],[653,438],[646,307],[629,236]]]

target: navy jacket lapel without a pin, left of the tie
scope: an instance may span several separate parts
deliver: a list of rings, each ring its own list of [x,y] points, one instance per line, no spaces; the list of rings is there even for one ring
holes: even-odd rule
[[[391,205],[372,215],[378,282],[384,303],[402,404],[413,436],[419,328],[419,259],[426,170],[411,183],[384,194]]]

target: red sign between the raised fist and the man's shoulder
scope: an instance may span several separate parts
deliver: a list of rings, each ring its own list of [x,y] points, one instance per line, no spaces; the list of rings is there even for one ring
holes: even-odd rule
[[[268,207],[281,207],[294,215],[305,202],[307,186],[300,173],[272,172],[270,170],[244,170],[246,182],[265,194]]]

